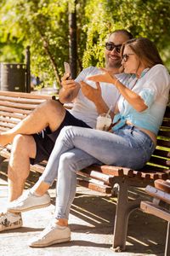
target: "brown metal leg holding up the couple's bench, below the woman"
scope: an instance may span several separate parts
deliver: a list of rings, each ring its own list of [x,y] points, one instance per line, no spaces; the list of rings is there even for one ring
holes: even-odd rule
[[[112,248],[115,252],[122,252],[126,248],[128,217],[133,210],[139,208],[141,199],[128,201],[127,180],[120,180],[117,183],[119,184],[119,193],[116,205]]]

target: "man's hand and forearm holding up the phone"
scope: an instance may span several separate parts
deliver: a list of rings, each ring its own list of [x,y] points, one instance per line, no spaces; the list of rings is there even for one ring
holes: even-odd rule
[[[73,79],[69,79],[68,74],[64,75],[61,79],[62,88],[59,90],[59,101],[62,103],[72,102],[80,90],[80,84]]]

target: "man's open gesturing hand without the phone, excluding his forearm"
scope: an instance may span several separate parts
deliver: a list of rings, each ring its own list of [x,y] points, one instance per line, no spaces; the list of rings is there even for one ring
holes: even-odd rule
[[[83,95],[86,96],[89,101],[94,102],[95,104],[95,102],[102,98],[101,87],[98,82],[95,83],[97,87],[96,89],[83,81],[80,82],[80,84]]]

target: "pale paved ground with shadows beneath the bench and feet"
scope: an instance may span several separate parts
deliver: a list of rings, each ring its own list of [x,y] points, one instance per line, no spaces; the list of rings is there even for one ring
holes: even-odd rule
[[[7,163],[0,166],[0,211],[7,203]],[[26,188],[32,186],[37,176],[29,178]],[[131,195],[135,195],[133,190]],[[166,222],[159,218],[135,211],[129,219],[127,252],[111,250],[116,198],[95,194],[88,189],[77,188],[77,196],[71,207],[71,242],[47,248],[31,248],[27,241],[48,224],[54,212],[55,189],[49,190],[52,197],[50,207],[23,213],[24,225],[18,230],[0,233],[1,256],[163,256]],[[144,194],[142,190],[138,193]]]

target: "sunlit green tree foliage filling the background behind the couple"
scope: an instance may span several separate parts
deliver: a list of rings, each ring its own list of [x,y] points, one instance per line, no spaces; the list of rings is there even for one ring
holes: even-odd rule
[[[23,62],[31,46],[31,73],[45,84],[59,84],[63,62],[69,61],[68,13],[75,0],[2,0],[0,61]],[[168,0],[77,0],[77,64],[105,65],[105,38],[125,28],[148,37],[170,69],[170,5]]]

